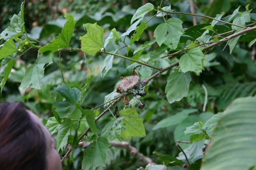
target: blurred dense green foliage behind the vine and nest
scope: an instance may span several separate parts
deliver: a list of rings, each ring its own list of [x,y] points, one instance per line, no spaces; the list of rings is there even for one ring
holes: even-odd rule
[[[130,27],[130,21],[136,10],[148,2],[159,6],[161,0],[27,0],[24,5],[26,9],[24,10],[25,27],[29,37],[46,44],[61,33],[62,27],[67,21],[64,19],[64,13],[71,14],[77,21],[69,44],[73,49],[80,48],[79,37],[86,33],[82,26],[84,23],[97,22],[104,29],[104,40],[110,35],[113,28],[116,28],[120,32],[120,35],[122,35]],[[171,3],[171,9],[175,12],[191,13],[189,0],[172,0]],[[12,3],[8,1],[0,2],[0,32],[8,27],[9,18],[12,18],[13,14],[19,13],[20,4],[21,2],[19,1],[13,1]],[[246,11],[245,7],[247,4],[250,4],[250,9],[252,9],[250,12],[251,21],[246,23],[247,25],[254,23],[256,20],[256,2],[254,0],[194,0],[194,10],[196,14],[205,14],[213,18],[216,14],[223,14],[223,20],[228,20],[228,16],[233,14],[238,6],[240,6],[240,11]],[[169,5],[169,0],[162,1],[162,7]],[[155,11],[149,12],[144,19],[149,20],[154,14],[156,14]],[[184,31],[187,28],[190,29],[188,34],[192,37],[192,41],[204,33],[205,30],[201,28],[209,25],[206,23],[212,22],[208,18],[197,17],[197,26],[192,27],[192,16],[170,14],[168,17],[170,18],[170,16],[182,20]],[[139,41],[131,46],[132,51],[145,41],[154,39],[153,32],[160,23],[164,23],[162,17],[152,18],[146,24],[147,28],[142,33]],[[231,25],[225,24],[223,26],[220,22],[217,23],[215,28],[218,33],[224,33],[233,29]],[[24,39],[26,37],[21,38]],[[201,38],[204,41],[207,37]],[[172,162],[170,161],[172,160],[171,158],[169,159],[168,156],[162,155],[161,159],[160,154],[157,155],[153,152],[168,154],[172,158],[178,156],[180,150],[176,146],[177,141],[191,141],[190,137],[194,133],[200,134],[198,130],[200,128],[198,128],[198,131],[192,131],[189,135],[184,135],[183,132],[186,130],[186,127],[190,127],[196,122],[199,122],[198,126],[200,126],[200,123],[205,125],[208,119],[214,114],[223,112],[236,98],[255,96],[256,49],[255,45],[249,47],[249,43],[255,38],[255,31],[246,33],[246,35],[240,37],[231,54],[229,47],[225,48],[226,43],[214,47],[212,51],[205,55],[204,70],[201,73],[190,73],[192,81],[189,84],[188,95],[180,101],[170,104],[166,98],[165,88],[170,71],[160,74],[146,86],[146,96],[138,99],[146,104],[143,109],[138,109],[138,100],[130,96],[129,102],[132,100],[131,105],[138,111],[139,117],[143,118],[146,137],[132,137],[130,140],[122,141],[128,141],[138,152],[151,158],[156,164],[163,164],[165,162],[165,165],[169,166],[171,164],[170,162]],[[126,43],[129,43],[129,40],[129,37],[127,37]],[[4,39],[0,40],[0,44],[4,42]],[[187,38],[182,36],[178,49],[182,48],[181,43],[186,44],[186,42]],[[39,45],[41,44],[39,43]],[[114,51],[116,48],[118,48],[117,44],[111,41],[106,47],[106,51]],[[175,50],[170,50],[166,45],[159,47],[154,43],[145,48],[139,57],[146,62],[150,62],[150,59],[157,59],[159,56],[173,52]],[[126,48],[118,51],[118,54],[126,55]],[[20,53],[14,54],[14,56],[19,55]],[[59,64],[59,53],[51,53],[48,56],[52,59],[52,64],[47,67],[45,66],[44,76],[40,80],[40,89],[27,88],[24,92],[24,89],[20,88],[20,84],[24,78],[26,69],[36,63],[37,56],[38,50],[31,49],[15,61],[8,81],[2,89],[0,100],[1,102],[24,102],[46,124],[48,119],[53,117],[52,103],[56,100],[56,95],[52,94],[52,90],[58,84],[62,83],[62,75]],[[133,53],[130,51],[128,57],[132,56]],[[170,59],[166,57],[157,61],[155,65],[159,68],[164,68],[178,61],[181,56],[182,54],[178,54]],[[120,77],[132,75],[133,68],[130,66],[130,61],[114,57],[112,68],[102,76],[101,67],[105,57],[106,55],[103,53],[85,56],[82,51],[62,51],[61,53],[64,80],[70,87],[83,88],[86,79],[93,72],[94,78],[92,78],[90,86],[88,86],[88,90],[81,102],[83,108],[90,109],[87,106],[96,107],[108,101],[105,100],[105,96],[116,91],[116,87],[120,84]],[[148,78],[152,74],[152,70],[142,72],[140,69],[142,67],[138,67],[138,74],[141,80]],[[172,72],[179,69],[180,66],[174,67],[172,69],[174,71]],[[243,101],[240,100],[236,104],[239,105]],[[123,107],[124,104],[120,101],[118,109],[121,110]],[[105,106],[105,108],[107,107]],[[100,107],[99,112],[103,110],[104,108]],[[112,112],[114,110],[112,109]],[[230,110],[232,111],[233,109]],[[74,117],[78,112],[79,110],[77,109],[72,113]],[[97,121],[96,127],[100,129],[98,135],[100,135],[104,126],[111,119],[112,115],[107,113]],[[81,121],[76,135],[80,136],[87,127],[88,124],[85,121]],[[206,135],[210,136],[211,134]],[[54,137],[57,139],[56,134]],[[97,137],[96,133],[90,131],[88,137],[84,138],[84,141],[93,141]],[[72,144],[74,137],[72,138],[70,136],[68,140],[68,143]],[[179,143],[178,145],[185,150],[191,144]],[[204,145],[204,143],[198,145]],[[64,156],[68,149],[67,147],[63,151],[60,151],[60,155]],[[84,150],[81,146],[76,147],[74,149],[74,162],[71,162],[69,158],[66,159],[63,162],[63,169],[81,169]],[[195,151],[190,155],[190,162],[195,162],[194,166],[196,164],[200,165],[202,152],[201,149],[201,151],[197,150],[197,152]],[[100,166],[97,169],[134,170],[141,166],[145,167],[147,162],[139,158],[137,155],[130,154],[125,148],[110,147],[106,153],[106,167]],[[184,160],[182,163],[183,167],[187,168],[188,165],[186,165],[185,158],[179,158],[180,160]],[[173,161],[175,162],[176,160]],[[177,163],[175,165],[179,164]],[[249,167],[253,169],[254,166],[256,165]],[[194,168],[194,170],[198,169],[198,167]],[[192,168],[190,169],[192,170]]]

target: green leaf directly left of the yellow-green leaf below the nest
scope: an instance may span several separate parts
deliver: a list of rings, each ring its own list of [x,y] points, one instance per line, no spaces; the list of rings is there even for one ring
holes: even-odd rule
[[[117,119],[109,121],[102,129],[101,136],[105,137],[109,141],[121,141],[122,119],[124,119],[124,117],[118,117]]]

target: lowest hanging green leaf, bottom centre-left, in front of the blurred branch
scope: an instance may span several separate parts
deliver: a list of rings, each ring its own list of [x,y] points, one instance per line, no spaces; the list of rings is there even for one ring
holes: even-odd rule
[[[104,137],[98,137],[96,141],[84,151],[84,158],[82,161],[83,170],[95,170],[98,166],[106,166],[106,152],[110,144]]]

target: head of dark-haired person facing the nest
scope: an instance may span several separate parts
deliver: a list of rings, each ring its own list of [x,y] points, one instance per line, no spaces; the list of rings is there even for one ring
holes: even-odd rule
[[[0,104],[0,169],[61,170],[49,131],[20,102]]]

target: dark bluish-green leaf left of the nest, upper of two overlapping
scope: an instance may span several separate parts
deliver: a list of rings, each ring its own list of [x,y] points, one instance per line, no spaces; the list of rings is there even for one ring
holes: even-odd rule
[[[67,102],[75,105],[78,103],[81,92],[77,88],[70,88],[66,84],[59,84],[54,90],[52,90],[52,94],[56,96],[60,96],[66,99]]]

